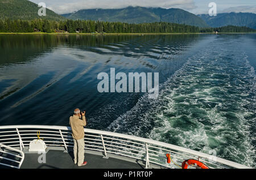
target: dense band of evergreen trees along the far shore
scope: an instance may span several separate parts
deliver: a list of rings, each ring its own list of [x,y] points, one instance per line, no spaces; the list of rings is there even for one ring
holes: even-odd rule
[[[247,27],[229,25],[220,28],[200,28],[185,24],[156,22],[129,24],[94,20],[0,20],[0,32],[68,32],[68,33],[211,33],[211,32],[256,32]]]

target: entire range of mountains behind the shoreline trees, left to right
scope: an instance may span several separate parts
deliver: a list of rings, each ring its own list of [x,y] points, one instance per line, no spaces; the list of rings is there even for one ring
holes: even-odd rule
[[[47,16],[39,16],[40,7],[28,0],[0,0],[0,20],[99,20],[121,23],[155,23],[167,22],[193,25],[196,27],[225,27],[234,25],[256,29],[256,14],[249,12],[220,13],[217,16],[208,14],[195,15],[180,8],[139,7],[79,10],[59,15],[47,9]]]

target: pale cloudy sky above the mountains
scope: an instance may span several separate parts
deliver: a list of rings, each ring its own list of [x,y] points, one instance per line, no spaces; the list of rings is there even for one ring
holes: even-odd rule
[[[89,8],[123,8],[127,6],[182,8],[193,14],[208,14],[208,5],[215,2],[217,13],[253,12],[256,14],[255,0],[30,0],[44,2],[47,8],[58,14]]]

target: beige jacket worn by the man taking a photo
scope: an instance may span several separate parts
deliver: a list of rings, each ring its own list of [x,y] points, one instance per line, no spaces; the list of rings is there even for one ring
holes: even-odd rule
[[[86,119],[82,116],[73,115],[69,118],[69,125],[72,129],[72,136],[76,140],[84,139],[84,126],[86,126]]]

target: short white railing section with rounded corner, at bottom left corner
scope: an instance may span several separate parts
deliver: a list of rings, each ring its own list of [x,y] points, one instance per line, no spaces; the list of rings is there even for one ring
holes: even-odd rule
[[[0,165],[19,169],[24,160],[24,153],[0,143],[0,160],[5,161],[4,163],[0,161]]]

